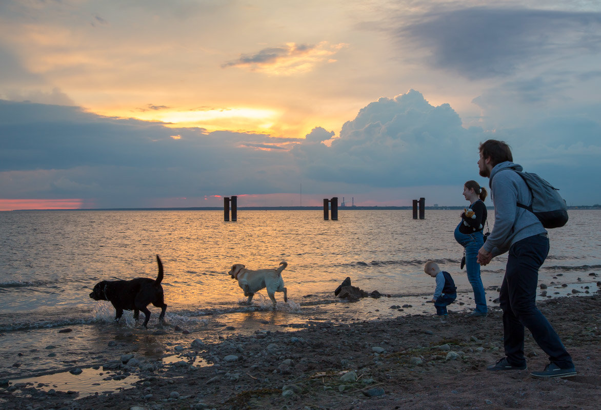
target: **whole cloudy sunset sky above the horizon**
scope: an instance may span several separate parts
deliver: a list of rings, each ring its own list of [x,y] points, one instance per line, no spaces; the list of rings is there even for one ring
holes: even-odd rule
[[[2,0],[0,210],[466,205],[489,138],[598,204],[600,49],[597,0]]]

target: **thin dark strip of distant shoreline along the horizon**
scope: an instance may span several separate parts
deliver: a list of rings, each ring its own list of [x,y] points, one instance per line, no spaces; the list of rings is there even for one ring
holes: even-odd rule
[[[463,210],[460,205],[450,207],[426,207],[427,211],[441,210]],[[489,210],[494,210],[494,207],[486,207]],[[338,211],[395,211],[395,210],[412,210],[413,207],[338,207]],[[600,205],[582,205],[578,207],[568,207],[569,210],[601,210]],[[223,207],[174,207],[174,208],[71,208],[64,210],[10,210],[0,212],[35,212],[35,211],[223,211]],[[238,207],[239,211],[322,211],[323,207]]]

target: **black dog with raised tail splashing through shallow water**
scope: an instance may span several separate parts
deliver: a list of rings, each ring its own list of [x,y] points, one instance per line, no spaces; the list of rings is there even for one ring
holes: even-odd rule
[[[115,322],[121,318],[123,310],[133,310],[133,318],[138,321],[141,310],[146,315],[144,327],[147,327],[150,310],[146,306],[152,303],[161,308],[159,321],[164,323],[167,305],[163,301],[163,287],[160,286],[160,282],[163,280],[163,264],[160,262],[159,255],[156,256],[156,262],[159,264],[159,276],[156,277],[156,280],[147,277],[132,280],[103,280],[96,283],[90,297],[94,300],[111,302],[117,311]]]

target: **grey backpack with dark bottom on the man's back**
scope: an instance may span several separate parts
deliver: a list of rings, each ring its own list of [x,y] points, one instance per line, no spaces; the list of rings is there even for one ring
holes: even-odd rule
[[[533,213],[547,229],[561,228],[567,223],[566,201],[557,192],[558,189],[535,173],[517,171],[528,185],[532,194],[530,205],[517,203],[517,206]]]

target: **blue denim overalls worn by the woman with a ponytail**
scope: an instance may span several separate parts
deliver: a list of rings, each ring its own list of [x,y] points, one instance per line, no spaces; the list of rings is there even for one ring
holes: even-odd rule
[[[486,293],[484,292],[484,285],[482,285],[482,279],[480,278],[480,264],[478,264],[478,250],[484,244],[484,237],[481,231],[474,232],[473,234],[462,234],[459,232],[459,226],[463,222],[460,222],[455,228],[455,240],[465,248],[465,269],[468,272],[469,284],[472,285],[474,290],[474,301],[476,303],[476,312],[486,313],[488,308],[486,307]]]

